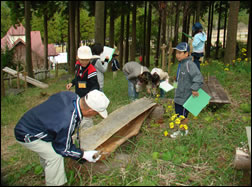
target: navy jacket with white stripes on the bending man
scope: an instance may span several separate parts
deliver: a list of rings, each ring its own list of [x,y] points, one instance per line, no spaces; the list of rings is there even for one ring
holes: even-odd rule
[[[83,151],[73,144],[72,135],[81,119],[80,97],[63,91],[27,111],[18,121],[14,133],[22,142],[28,143],[33,139],[52,142],[56,153],[79,159]]]

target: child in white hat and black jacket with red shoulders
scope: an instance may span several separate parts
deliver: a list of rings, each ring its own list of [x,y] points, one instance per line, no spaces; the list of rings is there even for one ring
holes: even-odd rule
[[[70,90],[72,86],[75,86],[75,93],[80,97],[85,96],[91,90],[100,89],[97,79],[97,71],[90,63],[92,58],[93,55],[90,47],[79,47],[79,60],[75,64],[75,78],[71,83],[66,85],[66,89]]]

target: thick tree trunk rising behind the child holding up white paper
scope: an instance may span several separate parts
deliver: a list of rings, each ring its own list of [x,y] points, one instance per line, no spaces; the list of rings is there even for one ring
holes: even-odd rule
[[[95,42],[104,46],[104,1],[95,2]]]

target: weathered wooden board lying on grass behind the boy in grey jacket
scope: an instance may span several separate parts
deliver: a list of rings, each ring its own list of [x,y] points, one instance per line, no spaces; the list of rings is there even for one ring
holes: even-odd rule
[[[210,103],[229,104],[229,97],[215,76],[210,76],[202,89],[211,96]]]

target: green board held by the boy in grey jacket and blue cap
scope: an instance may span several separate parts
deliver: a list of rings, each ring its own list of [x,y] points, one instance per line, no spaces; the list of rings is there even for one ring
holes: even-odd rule
[[[197,116],[211,99],[211,96],[209,96],[201,88],[198,90],[198,93],[198,97],[193,97],[191,95],[183,105],[183,107],[186,108],[189,112],[191,112],[194,116]]]

